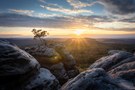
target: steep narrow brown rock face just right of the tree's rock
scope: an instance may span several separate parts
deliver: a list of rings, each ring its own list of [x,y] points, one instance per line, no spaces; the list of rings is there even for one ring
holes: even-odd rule
[[[74,57],[66,50],[64,45],[57,44],[55,46],[56,51],[62,57],[62,63],[67,71],[68,77],[73,78],[79,74],[79,70],[76,68],[76,60]]]

